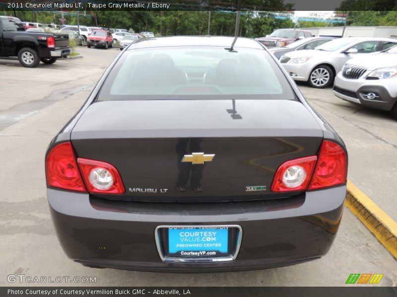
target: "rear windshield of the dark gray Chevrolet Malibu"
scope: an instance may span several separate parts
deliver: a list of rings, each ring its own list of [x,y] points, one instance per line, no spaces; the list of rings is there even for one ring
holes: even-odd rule
[[[262,49],[170,47],[127,50],[97,100],[295,99]]]

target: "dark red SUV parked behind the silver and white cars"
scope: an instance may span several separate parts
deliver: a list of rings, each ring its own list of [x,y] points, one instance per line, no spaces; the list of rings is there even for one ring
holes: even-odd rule
[[[256,40],[263,44],[266,48],[282,48],[298,39],[312,37],[312,33],[300,29],[278,29],[266,37],[257,38]]]

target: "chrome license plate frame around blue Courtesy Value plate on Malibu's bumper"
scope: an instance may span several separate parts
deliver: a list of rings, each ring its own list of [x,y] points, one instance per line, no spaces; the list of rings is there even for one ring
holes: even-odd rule
[[[200,248],[195,247],[196,250],[192,248],[183,249],[185,252],[182,254],[181,252],[170,252],[170,243],[169,243],[169,230],[200,230],[200,231],[215,231],[219,230],[219,234],[223,237],[217,243],[224,245],[225,238],[224,233],[227,231],[227,250],[222,246],[217,250],[215,254],[213,254],[214,250],[209,250],[208,248],[204,248],[203,251],[206,253],[202,253]],[[172,235],[174,236],[174,235]],[[157,251],[162,261],[164,262],[224,262],[224,261],[233,261],[236,259],[238,252],[241,246],[241,240],[243,236],[243,230],[241,226],[238,225],[162,225],[156,227],[154,231],[154,237],[156,242]],[[175,241],[173,241],[175,244]],[[172,246],[172,245],[171,245]],[[219,249],[219,248],[217,248]],[[174,251],[174,250],[171,250]],[[209,252],[209,253],[207,253]]]

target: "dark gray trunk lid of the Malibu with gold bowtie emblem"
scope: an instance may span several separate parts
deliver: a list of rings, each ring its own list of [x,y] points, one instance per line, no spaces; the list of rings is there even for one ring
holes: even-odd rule
[[[317,154],[322,139],[302,103],[258,99],[99,101],[71,133],[78,157],[108,162],[123,179],[124,195],[95,196],[142,201],[285,197],[270,191],[278,166]],[[197,152],[214,157],[193,164]]]

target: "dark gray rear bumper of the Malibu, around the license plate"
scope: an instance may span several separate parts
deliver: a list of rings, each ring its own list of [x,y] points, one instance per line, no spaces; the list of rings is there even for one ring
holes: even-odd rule
[[[294,198],[219,203],[107,201],[47,189],[66,255],[84,265],[142,271],[234,271],[292,265],[326,254],[338,229],[345,186]],[[238,225],[241,247],[226,262],[164,262],[161,225]]]

